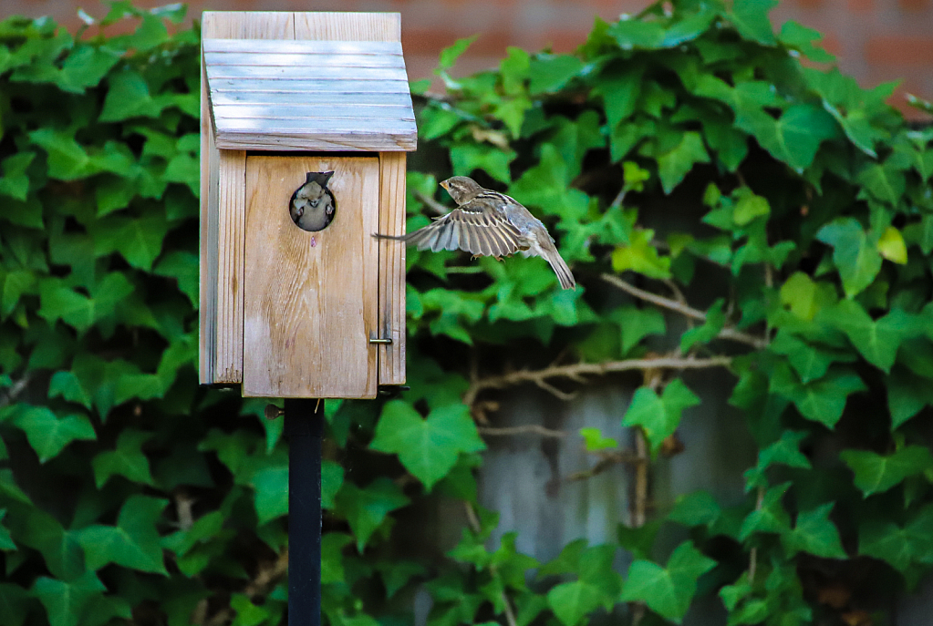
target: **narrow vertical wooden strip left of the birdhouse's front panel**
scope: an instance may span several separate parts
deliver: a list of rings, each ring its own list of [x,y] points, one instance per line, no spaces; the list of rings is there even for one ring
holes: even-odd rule
[[[243,382],[243,264],[246,153],[222,150],[217,187],[217,383]]]

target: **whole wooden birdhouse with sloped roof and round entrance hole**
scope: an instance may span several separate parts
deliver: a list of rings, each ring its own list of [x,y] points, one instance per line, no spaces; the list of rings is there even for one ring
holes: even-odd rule
[[[372,237],[405,225],[400,33],[397,13],[203,14],[203,384],[373,398],[405,382],[405,246]],[[314,199],[329,222],[307,230],[293,201]]]

